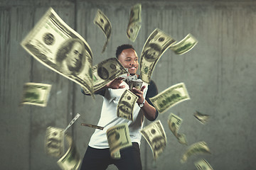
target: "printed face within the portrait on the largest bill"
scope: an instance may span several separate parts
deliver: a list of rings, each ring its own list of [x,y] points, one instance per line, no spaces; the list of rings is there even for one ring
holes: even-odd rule
[[[70,52],[67,54],[68,67],[78,67],[79,62],[82,58],[82,45],[80,42],[75,42]]]

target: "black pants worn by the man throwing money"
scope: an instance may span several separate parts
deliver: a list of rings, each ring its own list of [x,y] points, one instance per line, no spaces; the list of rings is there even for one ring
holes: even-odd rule
[[[119,170],[142,170],[137,142],[133,142],[131,147],[121,149],[120,154],[121,159],[112,159],[110,149],[95,149],[88,146],[80,170],[105,170],[110,164],[114,164]]]

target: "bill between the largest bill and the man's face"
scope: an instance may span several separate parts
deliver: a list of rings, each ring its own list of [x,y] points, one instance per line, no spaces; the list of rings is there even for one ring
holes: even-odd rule
[[[117,58],[113,57],[95,65],[92,68],[92,81],[94,91],[98,91],[107,83],[122,74],[127,74],[127,69],[122,66]],[[85,94],[90,94],[90,91],[87,91],[86,89],[83,90]]]

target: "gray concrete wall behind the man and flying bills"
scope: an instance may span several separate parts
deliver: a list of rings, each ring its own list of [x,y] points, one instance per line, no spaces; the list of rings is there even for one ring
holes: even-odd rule
[[[141,1],[142,29],[136,42],[126,37],[129,9],[137,1],[0,1],[0,162],[1,169],[59,169],[58,159],[44,152],[46,128],[65,128],[76,113],[81,116],[68,130],[83,157],[91,128],[97,124],[102,98],[80,93],[80,86],[51,71],[23,50],[21,40],[52,6],[60,18],[82,35],[93,52],[93,64],[114,57],[118,45],[130,43],[140,56],[146,38],[160,28],[177,41],[188,33],[198,45],[185,55],[167,50],[152,79],[159,92],[184,82],[191,100],[179,103],[157,118],[164,125],[167,147],[156,162],[142,139],[143,169],[196,169],[193,162],[206,159],[213,169],[254,169],[256,162],[256,3],[254,1]],[[101,53],[105,35],[92,22],[100,8],[112,23],[112,36]],[[75,10],[76,9],[76,10]],[[48,106],[22,106],[23,84],[53,84]],[[199,111],[210,115],[207,125],[193,118]],[[174,113],[183,119],[180,133],[188,145],[205,141],[212,154],[180,159],[187,146],[180,145],[168,128]],[[149,121],[145,125],[149,125]],[[108,169],[116,169],[110,166]]]

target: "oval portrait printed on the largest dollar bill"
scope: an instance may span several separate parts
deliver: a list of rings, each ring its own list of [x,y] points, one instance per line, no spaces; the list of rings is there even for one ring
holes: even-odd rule
[[[83,43],[78,39],[71,39],[65,42],[58,51],[56,62],[59,65],[60,72],[63,72],[63,74],[79,74],[85,65],[85,48]]]

